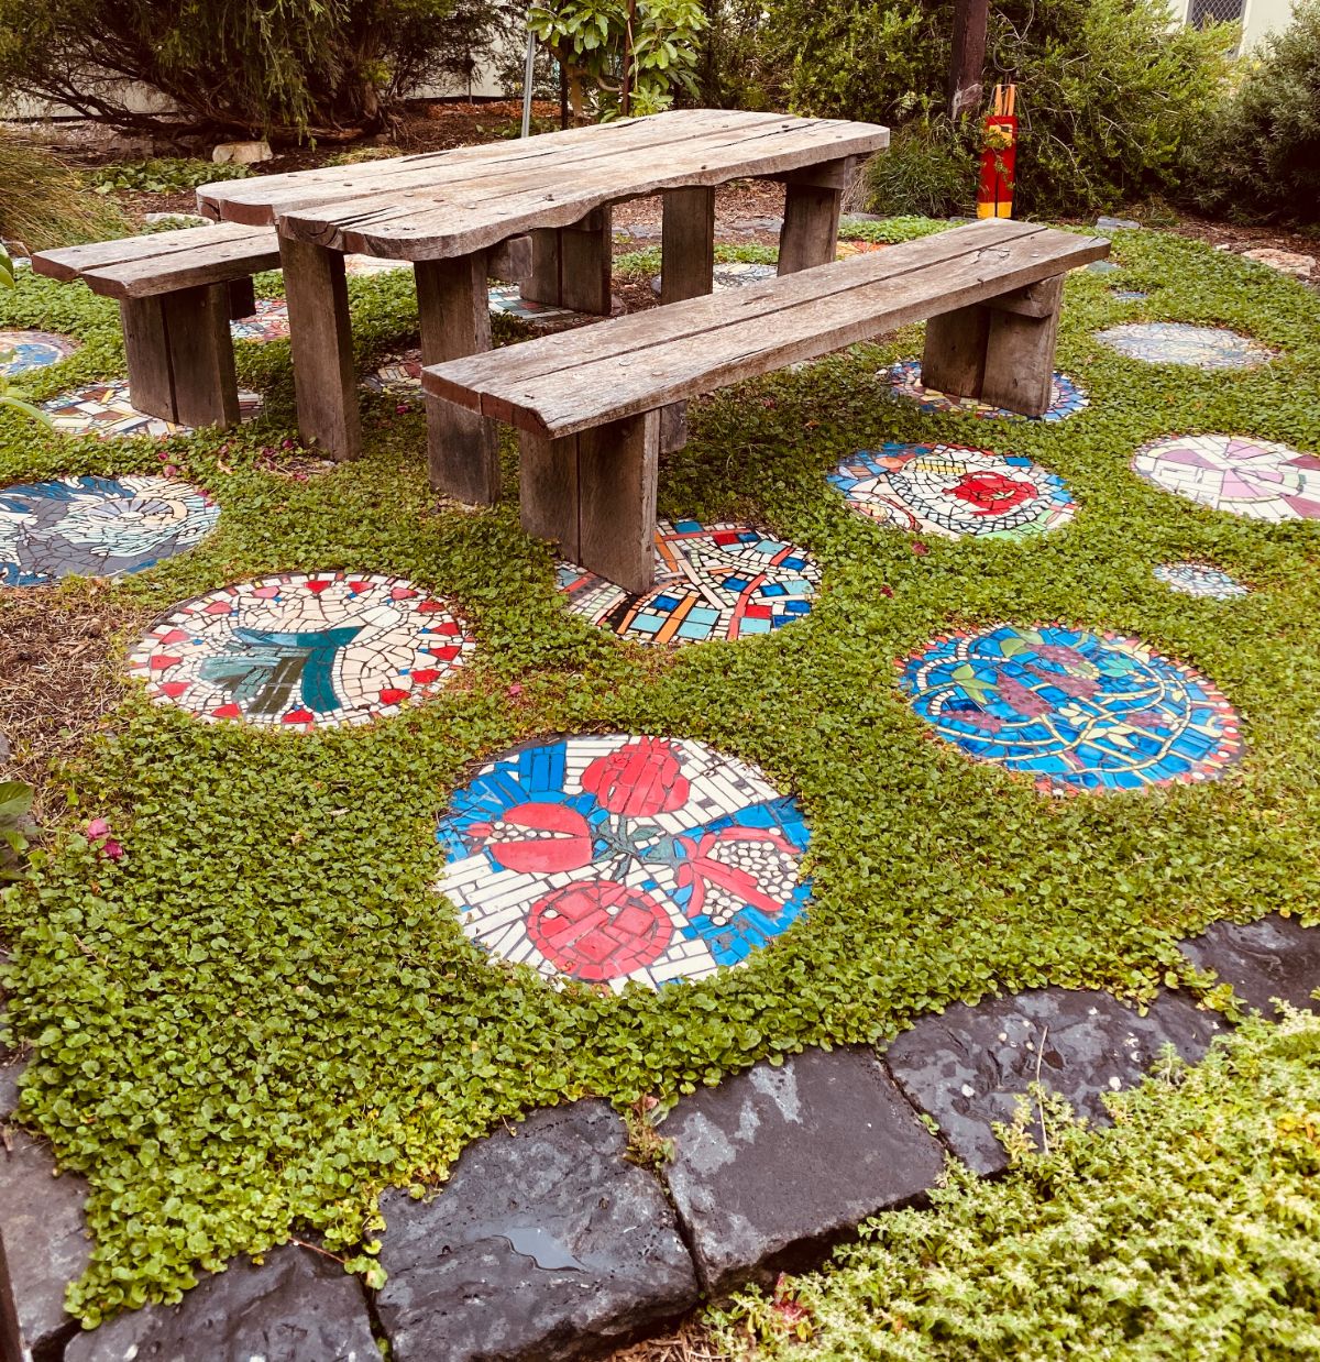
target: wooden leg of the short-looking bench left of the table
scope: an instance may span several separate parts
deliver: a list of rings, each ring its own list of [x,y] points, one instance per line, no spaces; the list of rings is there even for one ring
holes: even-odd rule
[[[191,426],[238,424],[226,285],[125,298],[120,317],[128,391],[139,411]]]

